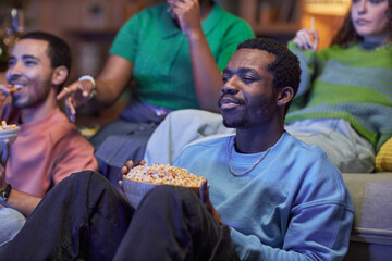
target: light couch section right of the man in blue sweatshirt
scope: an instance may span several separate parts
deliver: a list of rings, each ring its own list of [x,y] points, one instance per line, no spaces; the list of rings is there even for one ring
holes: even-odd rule
[[[354,203],[346,261],[389,261],[392,257],[392,172],[343,174]]]

